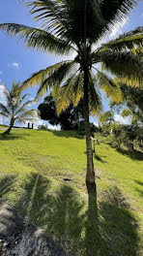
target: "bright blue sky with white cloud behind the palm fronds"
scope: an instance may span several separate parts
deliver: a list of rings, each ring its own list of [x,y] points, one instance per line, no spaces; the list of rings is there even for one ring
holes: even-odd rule
[[[0,1],[0,23],[14,22],[30,26],[39,26],[32,16],[29,16],[28,9],[23,6],[21,0],[1,0]],[[116,24],[110,33],[109,38],[132,30],[139,25],[143,25],[143,1],[130,12],[129,18]],[[26,49],[21,42],[15,38],[10,38],[0,31],[0,84],[7,83],[11,87],[12,81],[26,80],[31,74],[37,72],[61,59],[54,54],[42,53],[32,49]],[[37,87],[29,90],[31,97],[35,96]],[[104,99],[104,110],[108,109],[107,101]]]

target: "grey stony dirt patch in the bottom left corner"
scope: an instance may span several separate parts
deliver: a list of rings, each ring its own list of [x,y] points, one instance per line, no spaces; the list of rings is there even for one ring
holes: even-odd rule
[[[0,203],[1,256],[70,256],[62,246],[43,235],[43,230],[27,224],[14,207]]]

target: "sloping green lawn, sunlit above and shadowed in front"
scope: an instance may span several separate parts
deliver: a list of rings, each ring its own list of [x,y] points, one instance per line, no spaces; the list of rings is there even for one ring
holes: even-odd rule
[[[82,136],[24,129],[0,136],[0,197],[72,255],[141,256],[143,154],[103,143],[96,151],[98,209],[85,186]]]

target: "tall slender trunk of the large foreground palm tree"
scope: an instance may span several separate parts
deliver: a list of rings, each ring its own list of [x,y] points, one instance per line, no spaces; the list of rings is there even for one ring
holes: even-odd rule
[[[86,153],[87,153],[86,183],[95,183],[95,170],[94,170],[94,162],[93,162],[91,127],[90,127],[90,121],[89,121],[88,69],[84,70],[84,120],[85,120],[85,134],[86,134]]]

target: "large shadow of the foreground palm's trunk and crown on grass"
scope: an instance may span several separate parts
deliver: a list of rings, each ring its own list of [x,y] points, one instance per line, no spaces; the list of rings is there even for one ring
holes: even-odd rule
[[[97,205],[96,187],[87,187],[88,205],[65,183],[56,192],[46,177],[33,174],[15,208],[27,223],[44,228],[72,256],[137,256],[137,222],[122,192],[105,191]]]

